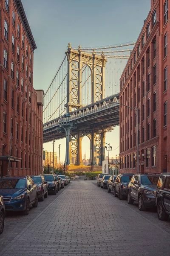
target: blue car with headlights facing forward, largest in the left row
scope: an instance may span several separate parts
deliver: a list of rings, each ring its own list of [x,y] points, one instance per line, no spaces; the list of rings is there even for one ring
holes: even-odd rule
[[[6,211],[23,211],[28,215],[31,205],[38,206],[37,186],[30,176],[1,178],[0,194]]]

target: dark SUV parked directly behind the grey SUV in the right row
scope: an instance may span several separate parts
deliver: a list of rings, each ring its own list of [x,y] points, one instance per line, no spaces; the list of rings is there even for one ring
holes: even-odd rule
[[[133,175],[134,173],[121,173],[116,177],[113,191],[115,197],[119,195],[120,200],[127,197],[127,186]]]

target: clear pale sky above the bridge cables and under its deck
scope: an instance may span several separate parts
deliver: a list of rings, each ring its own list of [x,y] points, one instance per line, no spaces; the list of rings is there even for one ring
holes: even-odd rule
[[[150,0],[22,0],[34,35],[34,88],[47,90],[61,64],[68,42],[96,47],[136,41],[150,10]],[[119,127],[106,134],[111,156],[119,154]],[[61,157],[65,160],[65,139]],[[89,157],[90,141],[82,140],[82,155]],[[52,151],[52,142],[44,149]],[[107,155],[107,154],[106,154]]]

